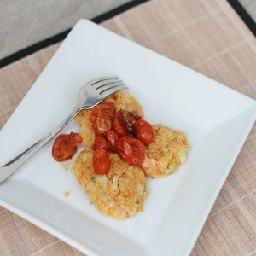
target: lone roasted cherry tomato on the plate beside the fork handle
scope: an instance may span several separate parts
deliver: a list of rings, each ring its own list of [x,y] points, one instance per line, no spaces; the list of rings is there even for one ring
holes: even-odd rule
[[[61,134],[55,138],[52,147],[52,156],[57,161],[64,161],[73,156],[77,151],[77,146],[83,141],[83,138],[75,132],[70,134]]]

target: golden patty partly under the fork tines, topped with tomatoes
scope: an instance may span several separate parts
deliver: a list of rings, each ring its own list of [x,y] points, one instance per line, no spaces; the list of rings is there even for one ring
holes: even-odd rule
[[[122,108],[143,117],[143,108],[141,104],[137,102],[137,99],[134,96],[131,96],[128,91],[122,90],[116,92],[113,95],[108,96],[103,102],[112,102],[117,111]],[[90,113],[90,109],[84,109],[75,117],[75,120],[81,126],[80,135],[83,137],[82,144],[89,147],[91,147],[95,140],[94,131],[90,126]]]

